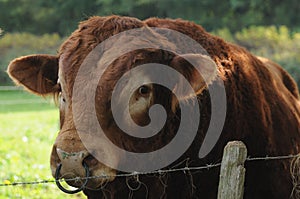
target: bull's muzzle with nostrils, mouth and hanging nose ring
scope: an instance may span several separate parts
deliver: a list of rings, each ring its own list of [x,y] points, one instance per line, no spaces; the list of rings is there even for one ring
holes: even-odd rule
[[[84,189],[99,190],[116,175],[115,169],[102,164],[87,150],[67,152],[57,147],[52,151],[51,170],[58,188],[69,194]]]

